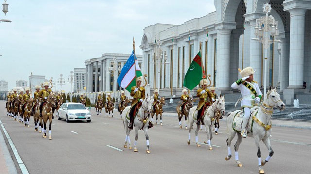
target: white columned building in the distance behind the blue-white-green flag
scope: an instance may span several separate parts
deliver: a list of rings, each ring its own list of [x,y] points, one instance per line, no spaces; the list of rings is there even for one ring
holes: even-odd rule
[[[86,92],[120,90],[117,79],[129,57],[130,54],[104,53],[102,57],[86,60]],[[142,55],[136,57],[141,67]]]

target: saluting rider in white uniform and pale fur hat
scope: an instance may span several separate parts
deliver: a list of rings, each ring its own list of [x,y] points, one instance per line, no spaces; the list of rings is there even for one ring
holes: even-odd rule
[[[241,91],[243,98],[241,101],[241,108],[244,111],[241,129],[241,136],[243,138],[246,138],[247,136],[246,125],[251,114],[250,109],[255,106],[255,101],[260,102],[262,97],[262,93],[257,82],[253,81],[254,72],[255,71],[252,67],[244,68],[240,72],[242,79],[237,80],[231,85],[233,89],[239,89]]]

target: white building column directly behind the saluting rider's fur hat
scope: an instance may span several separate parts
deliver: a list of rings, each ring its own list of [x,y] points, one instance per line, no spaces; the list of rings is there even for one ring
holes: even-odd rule
[[[250,20],[248,21],[250,23],[250,56],[249,56],[249,66],[251,66],[254,70],[254,80],[257,81],[259,87],[263,87],[263,82],[261,81],[261,72],[262,72],[262,44],[259,41],[252,40],[252,38],[256,38],[255,35],[255,27],[256,27],[256,20]],[[269,49],[268,49],[269,51]],[[269,54],[267,54],[269,55]],[[244,60],[245,60],[245,55],[244,55]],[[269,63],[267,62],[267,65]],[[244,66],[243,68],[246,68],[247,66]],[[267,68],[267,85],[269,85],[269,66]],[[264,75],[264,72],[262,76]],[[262,77],[264,79],[264,77]]]

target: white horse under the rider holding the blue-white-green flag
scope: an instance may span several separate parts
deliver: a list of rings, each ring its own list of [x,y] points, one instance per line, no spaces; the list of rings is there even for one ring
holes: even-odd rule
[[[135,126],[135,142],[134,142],[134,152],[137,152],[136,143],[138,139],[138,131],[139,129],[143,130],[146,137],[147,142],[147,150],[146,152],[149,154],[149,136],[147,134],[148,131],[148,115],[151,113],[153,98],[148,96],[143,100],[141,107],[137,111],[137,115],[134,118],[134,126]],[[131,129],[128,128],[128,124],[130,122],[129,112],[130,112],[131,106],[127,106],[121,114],[121,119],[123,119],[123,124],[126,132],[125,137],[125,145],[124,148],[127,148],[127,142],[129,143],[129,149],[132,150],[131,145],[131,139],[130,139],[130,132]]]

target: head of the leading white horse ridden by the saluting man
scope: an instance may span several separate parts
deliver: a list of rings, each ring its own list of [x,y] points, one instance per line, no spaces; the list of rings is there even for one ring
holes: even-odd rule
[[[270,86],[266,96],[264,97],[263,103],[267,104],[271,108],[277,106],[279,110],[283,111],[285,109],[285,104],[276,90],[277,87],[272,88]]]

